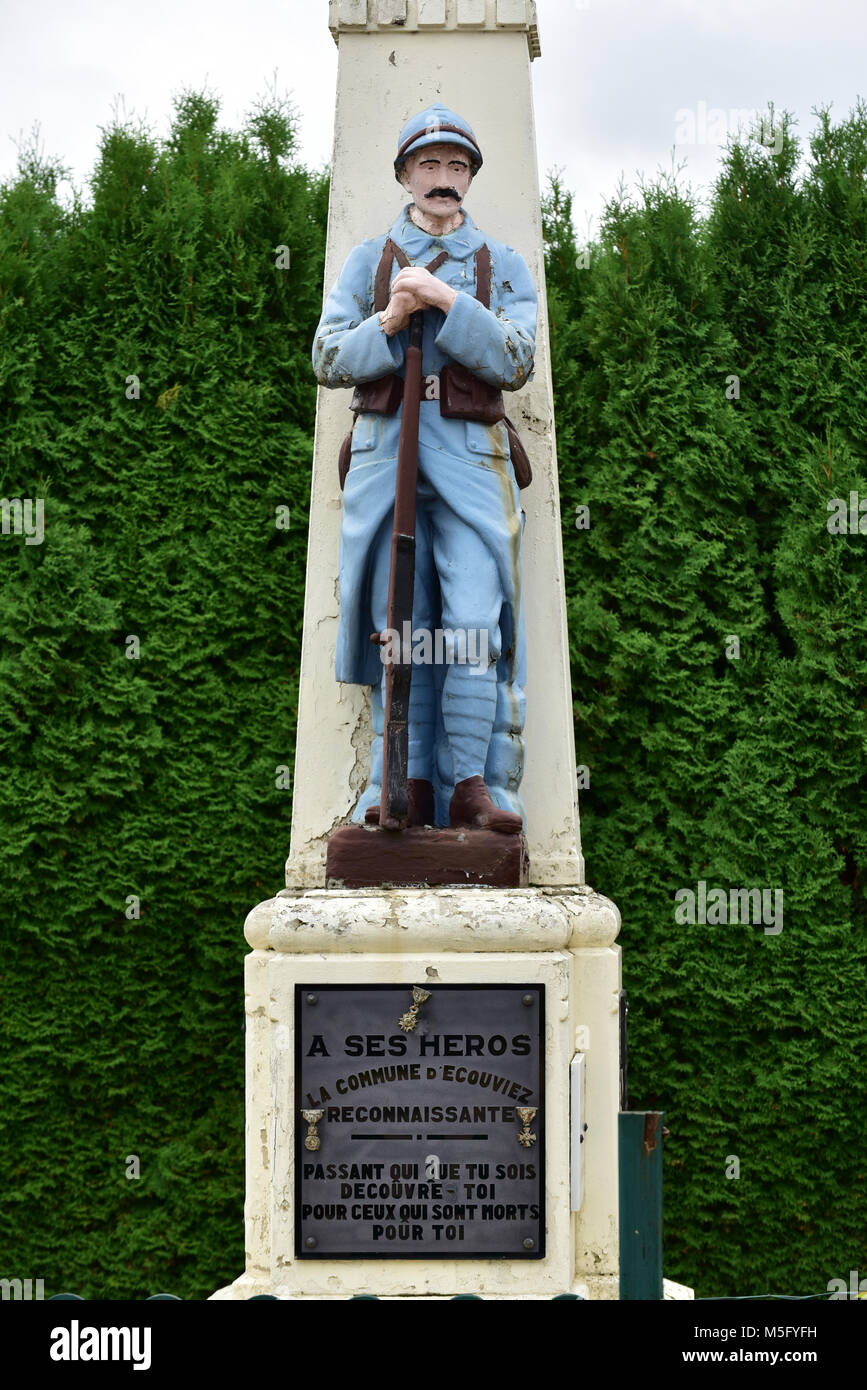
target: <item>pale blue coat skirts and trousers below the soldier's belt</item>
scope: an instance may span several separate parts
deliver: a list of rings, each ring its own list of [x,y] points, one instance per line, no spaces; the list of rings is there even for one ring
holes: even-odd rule
[[[372,685],[370,778],[354,820],[381,792],[385,664],[368,638],[388,626],[395,475],[393,457],[353,453],[343,493],[338,678]],[[509,459],[482,463],[420,442],[413,631],[465,634],[468,651],[486,655],[413,663],[408,776],[434,783],[439,824],[454,784],[474,776],[496,805],[524,815],[521,532]]]

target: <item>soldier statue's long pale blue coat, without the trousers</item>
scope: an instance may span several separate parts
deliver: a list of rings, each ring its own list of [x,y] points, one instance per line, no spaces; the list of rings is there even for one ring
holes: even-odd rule
[[[411,265],[427,265],[446,250],[434,272],[459,291],[447,314],[427,309],[422,374],[438,374],[459,361],[492,386],[517,391],[532,377],[536,289],[524,259],[513,247],[484,235],[463,210],[463,225],[432,236],[410,220],[408,206],[388,234],[356,246],[325,300],[317,328],[313,366],[324,386],[354,386],[386,373],[403,375],[407,332],[389,338],[374,313],[374,279],[386,236],[403,249]],[[475,296],[474,254],[490,252],[490,307]],[[399,272],[395,261],[392,279]],[[506,399],[509,413],[509,398]],[[353,431],[352,464],[343,491],[340,530],[340,617],[336,677],[378,685],[379,648],[370,642],[370,575],[374,548],[390,542],[400,416],[360,414]],[[524,621],[521,609],[521,527],[518,489],[502,423],[484,425],[440,416],[439,402],[424,399],[418,424],[420,498],[429,485],[457,517],[470,524],[493,555],[502,585],[502,648],[497,663],[497,724],[510,731],[511,766],[490,769],[489,787],[509,785],[517,794],[522,760]],[[336,468],[336,460],[335,460]],[[422,502],[420,500],[420,507]],[[506,726],[506,727],[504,727]],[[520,746],[518,746],[520,745]],[[500,758],[502,762],[502,758]],[[488,774],[486,774],[488,780]],[[515,805],[511,796],[506,798]]]

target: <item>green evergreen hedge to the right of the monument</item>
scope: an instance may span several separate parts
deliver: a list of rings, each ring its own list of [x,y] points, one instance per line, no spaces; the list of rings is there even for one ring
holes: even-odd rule
[[[820,114],[800,185],[781,126],[706,221],[621,190],[586,268],[545,202],[582,841],[631,1104],[671,1130],[666,1273],[703,1297],[867,1264],[867,535],[828,530],[867,500],[867,111]],[[782,890],[784,930],[678,922],[702,880]]]

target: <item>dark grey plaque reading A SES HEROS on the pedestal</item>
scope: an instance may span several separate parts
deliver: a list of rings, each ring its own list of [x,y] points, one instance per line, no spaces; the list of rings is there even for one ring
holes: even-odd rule
[[[299,1259],[545,1255],[545,988],[299,984]]]

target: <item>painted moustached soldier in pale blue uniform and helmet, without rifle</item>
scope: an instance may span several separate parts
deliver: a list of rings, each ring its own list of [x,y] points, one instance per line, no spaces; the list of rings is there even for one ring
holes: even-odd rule
[[[518,252],[484,236],[463,207],[481,167],[472,129],[445,106],[404,125],[395,177],[411,202],[346,259],[313,364],[322,386],[356,388],[340,459],[336,678],[371,687],[375,737],[353,820],[377,824],[381,812],[385,669],[372,638],[386,630],[403,377],[421,311],[407,823],[520,834],[518,488],[529,464],[502,392],[532,377],[536,291]],[[468,653],[475,660],[460,659]]]

